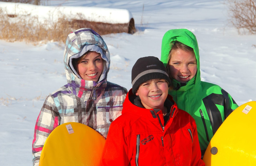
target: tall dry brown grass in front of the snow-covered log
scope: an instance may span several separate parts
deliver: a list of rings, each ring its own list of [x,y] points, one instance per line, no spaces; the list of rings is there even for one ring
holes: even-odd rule
[[[37,43],[42,41],[65,42],[67,35],[78,27],[71,27],[70,21],[62,17],[57,22],[41,23],[37,17],[26,15],[9,17],[0,8],[0,39]]]

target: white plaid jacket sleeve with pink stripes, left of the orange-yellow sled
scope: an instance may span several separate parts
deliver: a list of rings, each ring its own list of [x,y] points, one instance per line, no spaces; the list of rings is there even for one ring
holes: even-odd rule
[[[49,134],[60,124],[60,116],[51,96],[48,96],[36,119],[32,142],[33,166],[39,165],[41,151]]]

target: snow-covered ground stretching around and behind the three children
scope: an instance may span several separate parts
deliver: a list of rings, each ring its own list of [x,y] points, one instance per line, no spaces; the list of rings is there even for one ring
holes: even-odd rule
[[[169,29],[187,28],[197,37],[201,79],[220,85],[238,105],[255,101],[256,37],[228,26],[227,7],[212,0],[66,0],[49,5],[129,10],[138,32],[103,38],[111,54],[108,81],[130,89],[131,69],[139,57],[160,59]],[[144,10],[143,10],[144,6]],[[0,165],[32,165],[34,126],[45,97],[65,85],[64,44],[34,46],[0,40]]]

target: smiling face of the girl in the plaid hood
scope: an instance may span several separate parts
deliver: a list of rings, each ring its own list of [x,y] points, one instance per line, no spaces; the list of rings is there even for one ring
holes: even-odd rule
[[[77,64],[77,71],[84,80],[97,82],[103,70],[103,60],[100,53],[89,52],[87,56]]]

